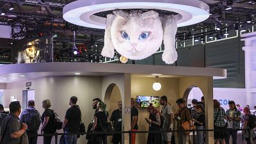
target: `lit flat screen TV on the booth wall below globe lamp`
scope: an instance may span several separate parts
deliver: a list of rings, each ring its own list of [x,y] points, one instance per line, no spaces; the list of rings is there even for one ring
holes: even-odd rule
[[[137,95],[136,100],[137,106],[140,108],[147,108],[150,103],[152,103],[155,108],[159,108],[159,96]]]

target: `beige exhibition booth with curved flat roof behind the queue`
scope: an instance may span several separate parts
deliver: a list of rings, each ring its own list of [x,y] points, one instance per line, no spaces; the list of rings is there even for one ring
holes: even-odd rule
[[[159,76],[156,79],[156,76]],[[226,70],[220,68],[168,67],[152,65],[127,65],[110,63],[34,63],[0,66],[1,103],[8,108],[11,100],[25,100],[35,96],[35,107],[42,114],[42,100],[50,99],[51,109],[60,118],[64,118],[69,108],[68,102],[72,95],[78,97],[82,111],[83,122],[92,122],[94,111],[92,99],[100,97],[107,104],[107,110],[112,113],[117,109],[117,102],[122,100],[122,129],[129,131],[131,97],[162,96],[168,97],[168,102],[177,110],[175,101],[184,97],[191,86],[202,90],[205,96],[206,129],[213,129],[212,111],[212,81],[214,77],[226,77]],[[161,84],[161,89],[152,88],[154,83]],[[29,83],[28,83],[29,82]],[[27,86],[26,86],[27,84]],[[28,85],[29,84],[29,85]],[[34,90],[32,98],[24,99],[24,92]],[[23,93],[23,95],[22,95]],[[188,99],[188,98],[186,98]],[[26,105],[23,105],[23,107]],[[159,106],[161,108],[161,106]],[[148,131],[146,108],[138,107],[139,131]],[[61,131],[59,131],[61,132]],[[207,135],[209,143],[214,143],[213,133]],[[129,135],[124,134],[124,143],[128,143]],[[39,138],[42,141],[42,138]],[[78,143],[84,143],[85,138],[79,138]],[[136,141],[146,143],[147,134],[138,134]],[[53,143],[53,140],[52,140]]]

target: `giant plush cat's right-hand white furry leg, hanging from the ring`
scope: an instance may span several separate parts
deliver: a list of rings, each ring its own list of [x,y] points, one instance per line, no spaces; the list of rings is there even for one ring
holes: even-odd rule
[[[163,18],[163,31],[164,31],[164,52],[162,60],[167,64],[174,63],[178,54],[175,48],[175,35],[177,33],[177,18],[175,15],[168,15]]]

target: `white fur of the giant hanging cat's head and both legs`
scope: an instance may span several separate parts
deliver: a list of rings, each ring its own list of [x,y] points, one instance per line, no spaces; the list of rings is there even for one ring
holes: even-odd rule
[[[177,60],[175,50],[177,20],[174,17],[164,17],[161,22],[158,13],[154,11],[126,13],[116,10],[114,14],[116,17],[115,15],[107,16],[102,56],[113,58],[114,49],[116,49],[131,60],[142,60],[154,54],[164,40],[163,61],[170,64]],[[125,31],[130,36],[130,40],[122,38],[121,31]],[[138,40],[138,36],[144,31],[151,33],[146,40]],[[132,48],[132,43],[136,45],[135,49]]]

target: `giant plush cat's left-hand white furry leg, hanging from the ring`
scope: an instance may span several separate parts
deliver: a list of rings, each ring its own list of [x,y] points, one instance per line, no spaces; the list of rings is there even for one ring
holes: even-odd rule
[[[114,57],[114,46],[111,39],[111,26],[113,23],[113,20],[115,19],[115,15],[107,15],[106,19],[106,29],[105,29],[105,35],[104,35],[104,47],[101,51],[101,55],[113,58]]]

